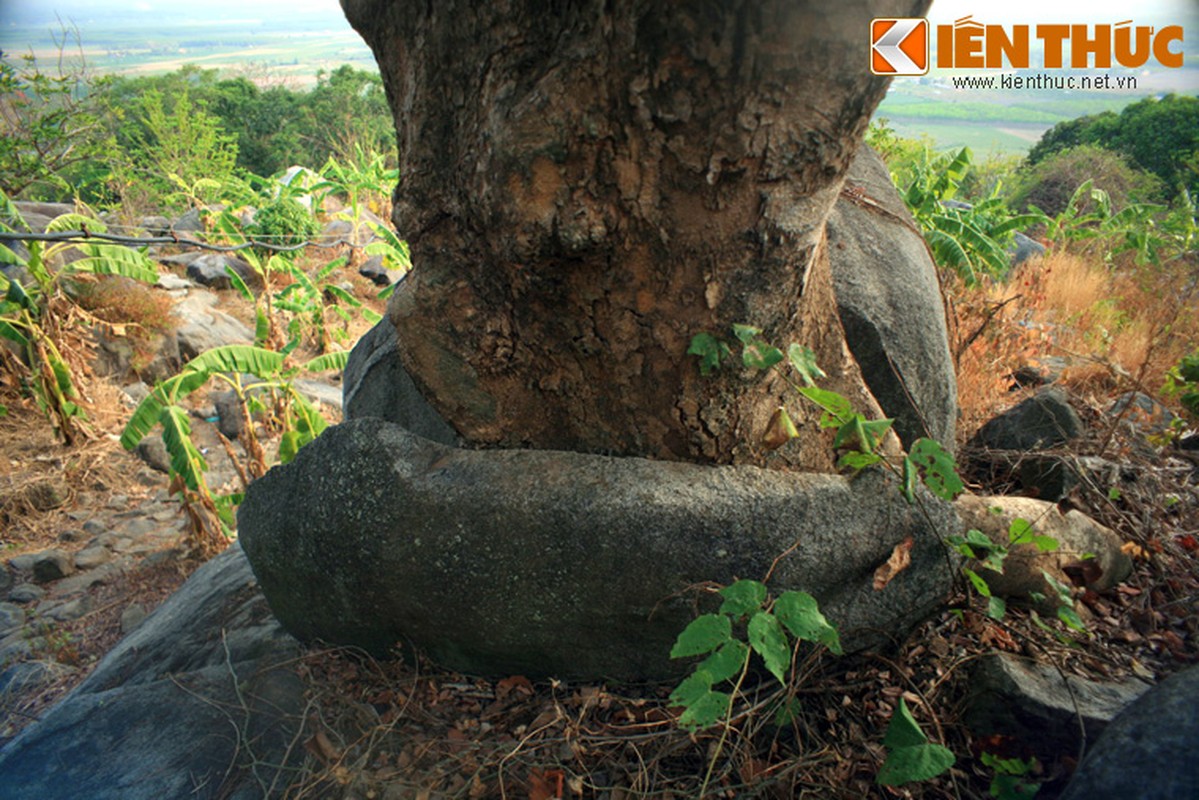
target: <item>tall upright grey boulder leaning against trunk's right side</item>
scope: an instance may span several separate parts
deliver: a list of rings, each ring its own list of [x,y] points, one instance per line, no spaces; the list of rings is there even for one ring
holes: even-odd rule
[[[858,149],[845,186],[866,196],[839,199],[827,228],[849,349],[905,445],[932,437],[952,447],[957,379],[936,269],[878,154]]]

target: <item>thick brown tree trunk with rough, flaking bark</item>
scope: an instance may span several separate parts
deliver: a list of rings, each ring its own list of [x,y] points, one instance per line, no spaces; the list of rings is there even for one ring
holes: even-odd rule
[[[878,413],[825,219],[886,80],[874,16],[924,0],[342,0],[396,118],[415,270],[403,359],[469,441],[831,470],[777,374],[701,378],[700,332],[811,347]],[[763,435],[787,403],[799,439]]]

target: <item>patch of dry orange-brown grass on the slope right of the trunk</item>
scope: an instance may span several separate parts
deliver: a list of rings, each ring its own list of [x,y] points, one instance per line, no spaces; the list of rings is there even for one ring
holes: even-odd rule
[[[966,433],[1011,404],[1012,373],[1047,357],[1086,399],[1135,389],[1170,404],[1165,371],[1199,344],[1199,289],[1180,263],[1109,266],[1054,252],[982,289],[951,278],[947,294]]]

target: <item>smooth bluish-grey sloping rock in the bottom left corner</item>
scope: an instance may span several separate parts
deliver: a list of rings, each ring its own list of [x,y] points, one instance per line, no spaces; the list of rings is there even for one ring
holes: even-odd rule
[[[297,654],[234,546],[0,751],[2,794],[263,798],[302,758],[299,747],[288,757],[303,710],[288,668]]]

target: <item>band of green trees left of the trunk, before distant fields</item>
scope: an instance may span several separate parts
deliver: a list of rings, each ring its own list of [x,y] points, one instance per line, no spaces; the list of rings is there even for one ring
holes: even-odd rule
[[[179,210],[230,179],[384,156],[391,112],[378,74],[343,65],[311,89],[261,88],[187,65],[91,78],[0,59],[0,188],[11,197]]]

